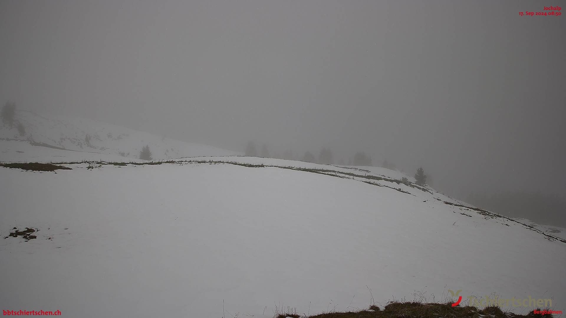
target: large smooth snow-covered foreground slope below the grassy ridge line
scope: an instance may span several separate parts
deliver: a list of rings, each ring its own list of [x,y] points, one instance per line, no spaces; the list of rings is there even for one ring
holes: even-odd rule
[[[272,317],[275,305],[311,314],[367,307],[368,288],[381,304],[461,289],[464,300],[496,293],[566,308],[566,243],[398,183],[387,169],[197,160],[0,167],[3,308]],[[3,239],[12,227],[40,231],[29,242]]]

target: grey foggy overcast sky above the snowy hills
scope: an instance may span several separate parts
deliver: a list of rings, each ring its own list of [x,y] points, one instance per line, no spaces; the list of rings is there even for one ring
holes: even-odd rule
[[[566,8],[0,0],[0,99],[241,151],[366,151],[447,194],[566,193]],[[566,7],[566,5],[564,6]]]

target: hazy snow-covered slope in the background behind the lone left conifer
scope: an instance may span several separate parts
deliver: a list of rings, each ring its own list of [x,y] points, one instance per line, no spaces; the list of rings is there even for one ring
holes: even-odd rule
[[[24,131],[16,123],[22,123]],[[83,118],[16,110],[12,127],[0,121],[0,161],[130,161],[144,145],[154,159],[239,154]]]

